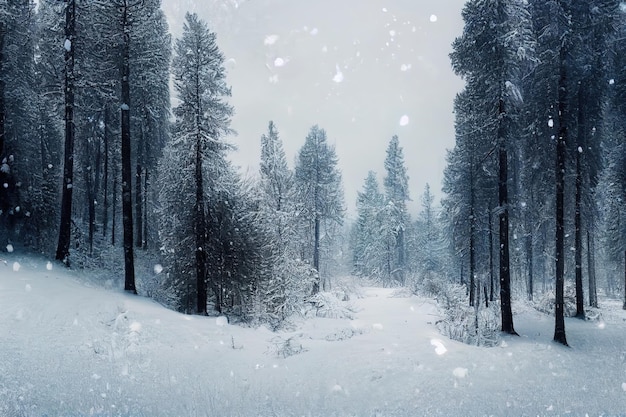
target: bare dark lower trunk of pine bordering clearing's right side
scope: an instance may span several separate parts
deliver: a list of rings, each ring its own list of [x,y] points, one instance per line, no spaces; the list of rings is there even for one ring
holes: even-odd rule
[[[509,267],[509,208],[508,208],[508,156],[506,151],[506,111],[504,100],[499,103],[498,126],[498,202],[500,223],[500,309],[502,313],[502,331],[517,334],[513,328],[513,311],[511,308],[511,271]]]

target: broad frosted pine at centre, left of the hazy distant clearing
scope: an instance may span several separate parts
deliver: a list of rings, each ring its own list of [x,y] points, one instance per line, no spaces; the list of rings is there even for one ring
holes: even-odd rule
[[[322,233],[329,231],[325,221],[341,224],[344,215],[341,173],[337,168],[335,148],[328,144],[326,131],[317,125],[300,148],[295,170],[297,210],[301,213],[303,234],[302,259],[312,260],[317,271],[313,294],[320,290],[320,243]],[[324,229],[324,230],[322,230]],[[331,238],[332,236],[327,236]]]

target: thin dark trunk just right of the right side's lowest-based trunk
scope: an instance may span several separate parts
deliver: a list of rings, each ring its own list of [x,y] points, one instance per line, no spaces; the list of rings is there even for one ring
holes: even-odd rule
[[[576,317],[585,318],[585,301],[583,294],[583,239],[582,239],[582,151],[585,140],[585,116],[583,112],[583,88],[578,86],[578,134],[576,135],[576,195],[574,208],[574,263],[576,264]]]

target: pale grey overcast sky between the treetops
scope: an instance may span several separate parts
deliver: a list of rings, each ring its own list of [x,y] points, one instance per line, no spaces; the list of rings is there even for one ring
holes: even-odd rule
[[[235,116],[231,155],[256,173],[260,137],[278,127],[293,167],[310,127],[334,144],[354,213],[367,171],[382,186],[394,134],[404,148],[419,210],[425,184],[441,197],[446,149],[454,145],[452,103],[463,86],[450,69],[465,0],[163,0],[174,37],[186,11],[217,33]]]

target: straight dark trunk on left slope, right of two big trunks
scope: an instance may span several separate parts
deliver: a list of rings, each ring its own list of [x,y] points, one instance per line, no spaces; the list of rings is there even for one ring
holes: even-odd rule
[[[133,201],[130,144],[130,22],[128,5],[122,7],[122,223],[124,228],[124,290],[137,294],[133,253]]]

